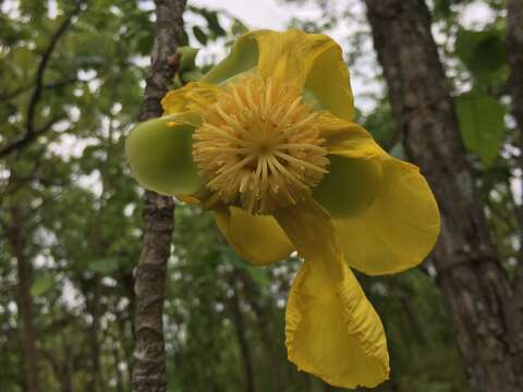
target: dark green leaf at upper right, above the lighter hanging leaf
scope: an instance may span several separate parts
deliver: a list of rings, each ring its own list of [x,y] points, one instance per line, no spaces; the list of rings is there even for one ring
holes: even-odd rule
[[[481,82],[501,83],[507,76],[504,34],[499,29],[460,29],[455,54]]]

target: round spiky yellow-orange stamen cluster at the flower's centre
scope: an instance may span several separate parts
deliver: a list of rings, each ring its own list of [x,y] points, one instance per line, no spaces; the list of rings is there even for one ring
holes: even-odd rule
[[[251,213],[303,200],[329,162],[316,117],[284,83],[256,75],[230,83],[194,133],[193,157],[207,188]]]

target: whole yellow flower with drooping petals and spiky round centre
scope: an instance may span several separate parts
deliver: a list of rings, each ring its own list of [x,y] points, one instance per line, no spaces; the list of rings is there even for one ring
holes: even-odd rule
[[[418,169],[353,122],[340,47],[291,29],[250,32],[197,83],[170,91],[166,115],[126,140],[136,180],[202,203],[246,260],[304,258],[285,316],[289,359],[345,388],[388,378],[381,321],[351,268],[419,264],[439,233]]]

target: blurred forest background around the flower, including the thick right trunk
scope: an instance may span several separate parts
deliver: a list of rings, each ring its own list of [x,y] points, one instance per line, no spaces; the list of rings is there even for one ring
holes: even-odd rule
[[[418,268],[358,274],[391,353],[376,391],[523,390],[523,1],[156,3],[0,0],[0,391],[141,390],[136,266],[154,224],[123,142],[161,12],[178,17],[174,51],[200,49],[173,85],[246,28],[339,41],[358,122],[421,167],[443,218]],[[336,391],[287,360],[284,306],[301,261],[251,267],[208,213],[167,209],[163,336],[146,369],[157,390]]]

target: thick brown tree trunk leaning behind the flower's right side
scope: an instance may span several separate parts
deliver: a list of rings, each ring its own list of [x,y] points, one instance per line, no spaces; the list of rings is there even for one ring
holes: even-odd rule
[[[472,391],[523,391],[521,317],[475,191],[427,5],[365,2],[396,124],[441,210],[434,262]]]

